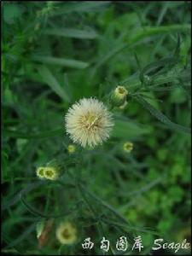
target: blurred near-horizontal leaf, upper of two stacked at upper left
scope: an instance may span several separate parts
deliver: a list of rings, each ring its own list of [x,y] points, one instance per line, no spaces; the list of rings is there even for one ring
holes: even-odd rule
[[[95,39],[98,37],[94,30],[86,31],[74,28],[48,28],[44,30],[44,34],[79,39]]]

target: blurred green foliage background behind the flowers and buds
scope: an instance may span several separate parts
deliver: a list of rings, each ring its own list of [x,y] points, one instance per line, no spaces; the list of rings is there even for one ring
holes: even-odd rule
[[[190,242],[190,3],[3,1],[2,7],[2,252],[84,255],[91,237],[106,254],[127,236],[125,255],[142,236],[141,254],[155,238]],[[105,104],[111,91],[129,91],[114,108],[108,142],[69,154],[67,109],[83,97]],[[126,153],[123,144],[134,144]],[[62,163],[55,182],[38,166]],[[76,184],[76,181],[80,185]],[[38,247],[37,223],[54,219]],[[55,238],[70,219],[73,246]],[[179,250],[178,254],[190,250]],[[177,253],[176,253],[177,254]]]

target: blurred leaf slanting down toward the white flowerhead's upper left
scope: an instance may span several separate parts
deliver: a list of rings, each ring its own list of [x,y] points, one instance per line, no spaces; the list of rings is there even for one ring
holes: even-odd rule
[[[38,69],[38,73],[40,74],[41,78],[43,79],[45,84],[48,84],[49,87],[55,91],[55,93],[61,97],[62,100],[66,102],[70,102],[69,96],[67,95],[67,92],[64,90],[63,87],[58,83],[58,81],[55,79],[55,76],[48,67],[40,67]]]

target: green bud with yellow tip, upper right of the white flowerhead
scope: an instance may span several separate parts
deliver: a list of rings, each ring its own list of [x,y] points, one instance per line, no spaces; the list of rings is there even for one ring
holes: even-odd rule
[[[128,95],[128,90],[124,86],[117,86],[115,90],[113,90],[111,96],[111,102],[114,106],[119,107],[122,106],[126,101],[126,96]]]

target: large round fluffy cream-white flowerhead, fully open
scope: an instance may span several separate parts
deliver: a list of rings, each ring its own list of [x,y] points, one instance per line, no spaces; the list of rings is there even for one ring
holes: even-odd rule
[[[66,120],[67,134],[74,143],[90,148],[102,144],[113,127],[112,115],[95,98],[81,99],[69,108]]]

